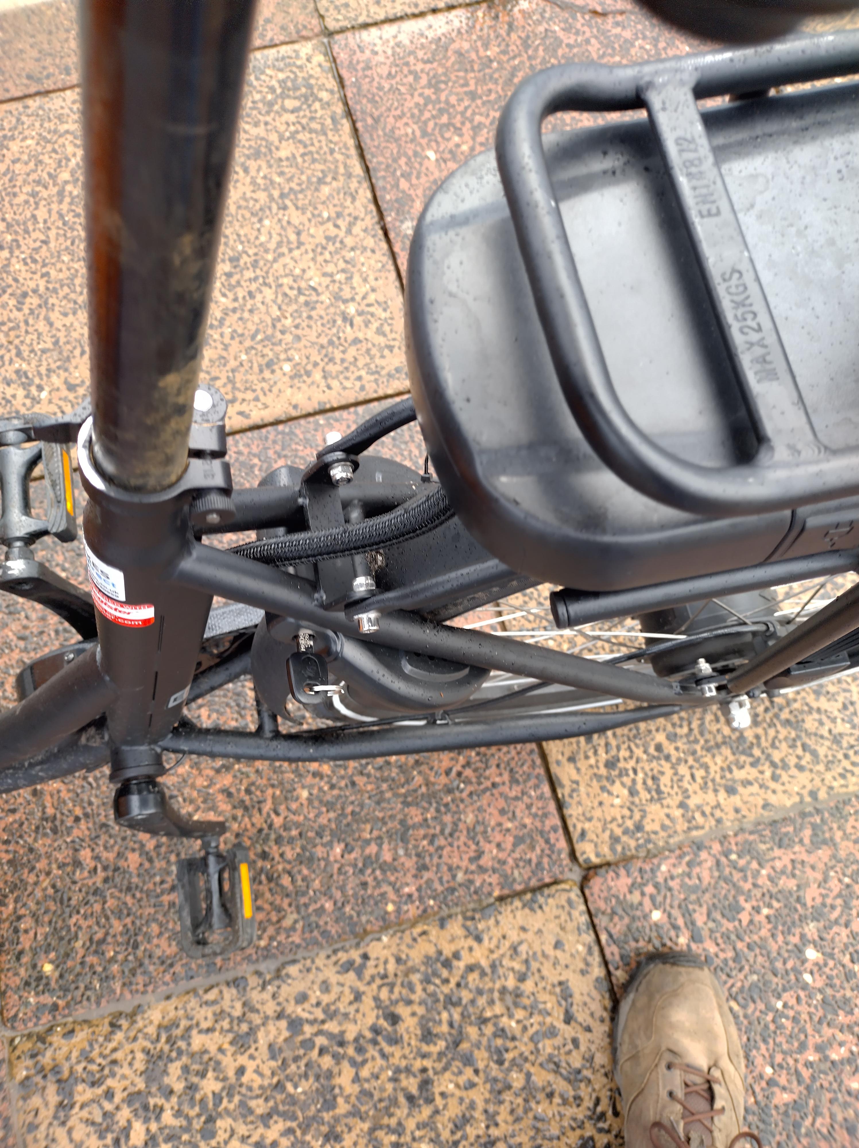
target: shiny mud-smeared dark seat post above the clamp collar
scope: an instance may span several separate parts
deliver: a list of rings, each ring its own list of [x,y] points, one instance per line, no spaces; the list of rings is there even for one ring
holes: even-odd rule
[[[83,0],[94,459],[175,483],[188,434],[256,0]]]

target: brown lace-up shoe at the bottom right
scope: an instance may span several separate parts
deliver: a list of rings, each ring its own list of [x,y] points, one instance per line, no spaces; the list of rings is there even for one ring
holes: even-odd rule
[[[710,969],[689,953],[639,965],[614,1022],[614,1077],[626,1148],[737,1148],[745,1066],[736,1025]]]

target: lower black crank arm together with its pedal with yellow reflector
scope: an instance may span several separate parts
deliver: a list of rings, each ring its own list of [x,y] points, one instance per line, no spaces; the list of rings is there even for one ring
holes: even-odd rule
[[[173,808],[154,778],[123,782],[114,794],[118,824],[160,837],[199,839],[202,856],[176,864],[181,947],[188,956],[224,956],[256,940],[250,858],[243,845],[222,852],[223,821],[191,821]]]

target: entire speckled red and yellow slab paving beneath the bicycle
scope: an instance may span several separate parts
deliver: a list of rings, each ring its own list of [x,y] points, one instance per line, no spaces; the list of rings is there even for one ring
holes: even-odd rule
[[[7,406],[48,412],[87,379],[73,9],[0,6],[0,367]],[[415,222],[523,76],[699,44],[626,0],[262,0],[255,47],[204,365],[245,484],[408,389]],[[417,427],[385,452],[420,466]],[[83,579],[79,544],[41,549]],[[10,596],[0,619],[8,705],[72,638]],[[256,881],[257,945],[204,965],[177,945],[187,850],[117,830],[103,773],[5,798],[0,1148],[620,1146],[610,1009],[664,947],[722,977],[765,1145],[856,1143],[854,682],[742,735],[683,714],[544,750],[186,762],[177,804],[225,815]],[[253,720],[242,683],[206,707]]]

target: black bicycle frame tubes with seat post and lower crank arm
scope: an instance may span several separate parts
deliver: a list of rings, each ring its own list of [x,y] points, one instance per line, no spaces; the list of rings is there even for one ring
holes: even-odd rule
[[[165,751],[345,760],[581,736],[748,693],[859,626],[854,589],[722,678],[718,684],[727,692],[717,698],[714,687],[702,690],[415,612],[487,587],[503,596],[498,588],[516,585],[517,575],[494,560],[465,565],[412,594],[395,590],[332,608],[297,574],[199,541],[225,527],[264,528],[295,505],[294,490],[233,491],[225,404],[198,383],[254,7],[253,0],[82,6],[92,417],[44,420],[3,432],[1,441],[64,442],[83,422],[77,448],[88,496],[92,603],[33,561],[24,528],[3,579],[6,589],[48,605],[87,642],[94,618],[98,645],[82,644],[79,656],[0,715],[0,789],[15,788],[24,774],[47,779],[109,759],[122,824],[196,837],[211,852],[223,823],[186,821],[169,806],[156,782]],[[690,67],[715,65],[701,57]],[[808,65],[810,75],[825,71]],[[753,53],[749,72],[760,72]],[[401,406],[388,422],[410,418],[413,408]],[[353,466],[366,444],[343,440],[326,448],[311,471],[327,482],[332,466]],[[20,481],[3,479],[5,504]],[[24,564],[17,574],[14,563]],[[839,551],[619,594],[562,591],[554,611],[556,621],[571,625],[857,565],[858,551]],[[247,673],[249,664],[242,653],[196,674],[216,595],[297,619],[308,629],[641,705],[288,735],[261,707],[255,734],[200,730],[180,720],[185,703]],[[107,738],[87,737],[102,715]]]

